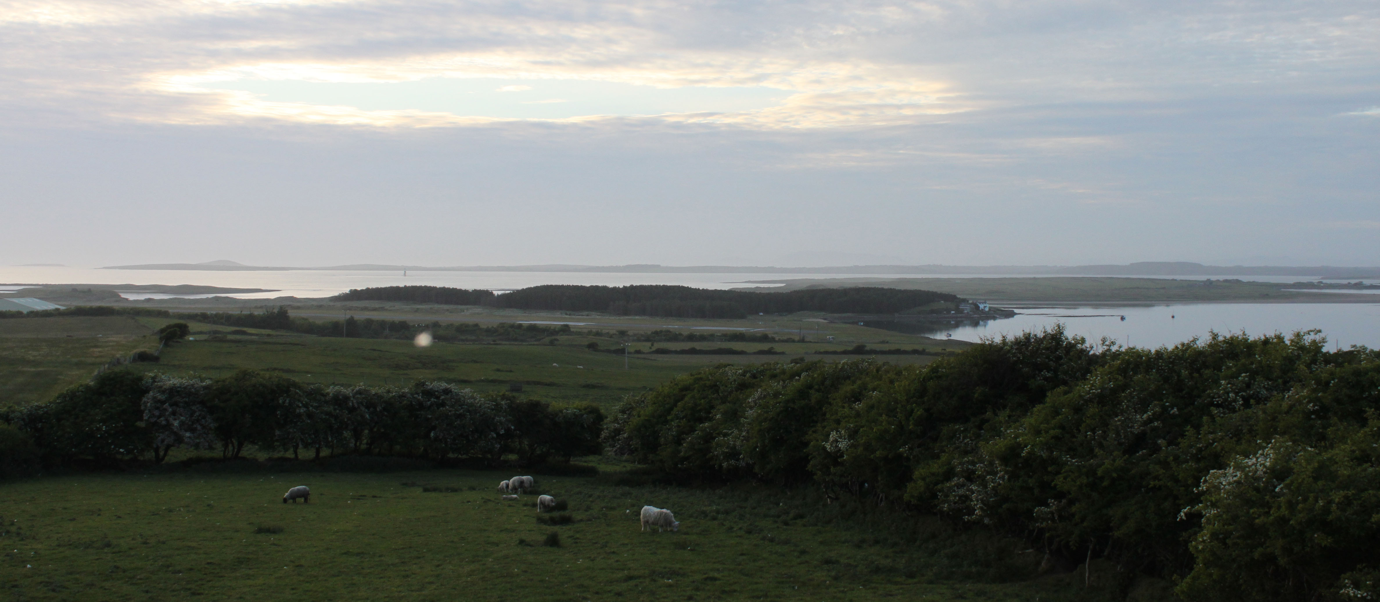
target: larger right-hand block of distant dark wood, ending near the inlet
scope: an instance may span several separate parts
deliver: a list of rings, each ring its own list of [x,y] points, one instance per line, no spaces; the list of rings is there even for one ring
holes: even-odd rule
[[[958,298],[931,291],[894,288],[820,288],[789,292],[712,291],[675,285],[584,287],[552,284],[494,298],[500,307],[563,311],[607,311],[615,315],[676,318],[744,318],[748,314],[827,311],[836,314],[897,313]]]

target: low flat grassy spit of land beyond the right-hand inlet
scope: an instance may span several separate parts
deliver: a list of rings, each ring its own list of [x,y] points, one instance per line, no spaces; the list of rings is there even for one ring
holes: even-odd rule
[[[1046,303],[1161,303],[1161,302],[1374,302],[1372,295],[1293,292],[1278,282],[1224,282],[1214,280],[1050,277],[1050,278],[820,278],[781,280],[784,289],[811,284],[825,287],[889,287],[948,292],[991,302]]]

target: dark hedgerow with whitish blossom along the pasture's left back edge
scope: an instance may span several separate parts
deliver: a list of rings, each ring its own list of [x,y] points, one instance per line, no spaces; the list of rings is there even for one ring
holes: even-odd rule
[[[520,461],[600,453],[603,413],[595,405],[551,405],[509,394],[480,395],[443,382],[411,387],[338,387],[240,371],[203,380],[110,371],[51,401],[0,411],[30,459],[8,464],[116,464],[172,448],[239,457],[308,450]],[[14,434],[0,433],[0,439]],[[3,442],[3,441],[0,441]],[[17,446],[19,444],[10,444]],[[17,448],[18,449],[18,448]]]

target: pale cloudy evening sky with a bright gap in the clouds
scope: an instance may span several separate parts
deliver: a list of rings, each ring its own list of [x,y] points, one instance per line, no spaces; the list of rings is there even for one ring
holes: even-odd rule
[[[0,264],[1380,264],[1380,4],[0,0]]]

